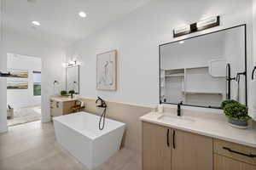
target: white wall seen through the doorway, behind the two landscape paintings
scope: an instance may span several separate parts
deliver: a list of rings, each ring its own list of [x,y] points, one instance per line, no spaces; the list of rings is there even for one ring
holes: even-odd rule
[[[41,71],[41,59],[20,54],[8,54],[7,68],[28,71],[27,78],[9,77],[7,81],[26,81],[27,89],[8,89],[7,103],[13,108],[41,105],[41,96],[33,95],[33,71]]]

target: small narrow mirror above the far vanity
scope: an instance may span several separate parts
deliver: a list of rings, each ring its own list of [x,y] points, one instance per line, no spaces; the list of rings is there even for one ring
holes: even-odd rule
[[[79,94],[79,65],[66,68],[66,89],[67,93],[74,90]]]

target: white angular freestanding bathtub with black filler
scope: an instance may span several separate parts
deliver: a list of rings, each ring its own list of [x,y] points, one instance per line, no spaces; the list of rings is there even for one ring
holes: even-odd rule
[[[106,118],[101,131],[100,116],[87,112],[57,116],[53,120],[58,143],[89,169],[101,165],[119,150],[125,130],[124,123]]]

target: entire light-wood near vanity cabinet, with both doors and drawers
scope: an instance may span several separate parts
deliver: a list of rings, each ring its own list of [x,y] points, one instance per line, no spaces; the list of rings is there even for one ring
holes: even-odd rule
[[[143,122],[143,170],[256,170],[256,148]]]

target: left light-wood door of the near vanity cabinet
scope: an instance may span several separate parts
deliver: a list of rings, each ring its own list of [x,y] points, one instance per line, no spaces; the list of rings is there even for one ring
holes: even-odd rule
[[[143,170],[171,170],[171,129],[143,122]]]

